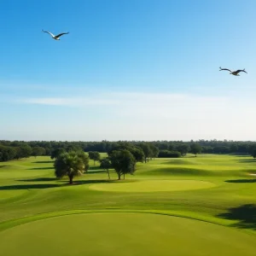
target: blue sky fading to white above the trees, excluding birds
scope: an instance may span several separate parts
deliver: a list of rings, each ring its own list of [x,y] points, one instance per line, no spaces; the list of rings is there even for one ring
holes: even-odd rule
[[[255,9],[254,0],[2,1],[0,139],[256,140]],[[42,29],[70,33],[55,41]]]

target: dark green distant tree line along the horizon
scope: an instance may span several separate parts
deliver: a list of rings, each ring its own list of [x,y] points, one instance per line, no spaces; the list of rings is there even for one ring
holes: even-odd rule
[[[256,157],[255,142],[239,141],[119,141],[119,142],[45,142],[45,141],[0,141],[0,161],[19,160],[29,156],[49,155],[53,159],[60,152],[82,150],[84,152],[111,152],[116,148],[124,148],[124,144],[134,147],[136,157],[141,157],[139,152],[143,149],[144,161],[154,157],[180,157],[187,153],[203,154],[251,154]],[[197,150],[196,147],[199,147]],[[198,146],[199,145],[199,146]],[[141,149],[140,149],[141,148]],[[196,153],[197,152],[197,153]]]

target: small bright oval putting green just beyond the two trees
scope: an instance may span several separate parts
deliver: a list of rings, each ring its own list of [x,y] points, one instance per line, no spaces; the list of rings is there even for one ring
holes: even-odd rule
[[[113,192],[156,192],[208,189],[216,184],[199,180],[141,180],[131,183],[96,183],[90,189]]]

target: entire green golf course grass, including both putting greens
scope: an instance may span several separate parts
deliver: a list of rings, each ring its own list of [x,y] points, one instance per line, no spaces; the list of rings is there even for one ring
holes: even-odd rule
[[[253,173],[252,157],[202,154],[139,163],[118,182],[91,161],[67,185],[49,157],[2,162],[0,247],[10,256],[255,255]]]

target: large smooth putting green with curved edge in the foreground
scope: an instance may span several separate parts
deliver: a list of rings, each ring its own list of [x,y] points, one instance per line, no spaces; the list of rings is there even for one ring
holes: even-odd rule
[[[47,218],[0,232],[3,255],[255,255],[256,238],[189,218],[88,213]]]

